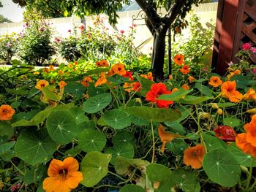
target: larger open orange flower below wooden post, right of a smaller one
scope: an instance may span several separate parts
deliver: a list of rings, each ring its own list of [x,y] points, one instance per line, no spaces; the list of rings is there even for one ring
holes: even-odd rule
[[[221,90],[222,96],[229,99],[231,102],[237,103],[243,96],[241,93],[236,91],[236,81],[223,82]]]

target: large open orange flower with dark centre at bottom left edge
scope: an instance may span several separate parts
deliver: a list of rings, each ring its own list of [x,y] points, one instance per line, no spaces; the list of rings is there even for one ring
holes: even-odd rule
[[[46,192],[69,192],[78,187],[83,174],[78,172],[79,164],[75,158],[68,157],[64,161],[53,159],[50,162],[48,176],[42,183]]]

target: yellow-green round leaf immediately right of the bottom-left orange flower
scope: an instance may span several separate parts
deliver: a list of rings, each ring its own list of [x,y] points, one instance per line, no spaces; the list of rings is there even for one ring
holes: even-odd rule
[[[108,174],[110,160],[110,154],[103,154],[97,151],[87,153],[81,162],[80,170],[83,174],[83,180],[80,183],[86,187],[97,185]]]

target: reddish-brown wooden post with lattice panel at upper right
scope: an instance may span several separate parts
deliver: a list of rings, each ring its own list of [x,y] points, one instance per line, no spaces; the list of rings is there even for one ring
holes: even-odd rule
[[[219,0],[212,66],[225,74],[244,43],[256,46],[256,0]],[[256,64],[252,54],[251,64]]]

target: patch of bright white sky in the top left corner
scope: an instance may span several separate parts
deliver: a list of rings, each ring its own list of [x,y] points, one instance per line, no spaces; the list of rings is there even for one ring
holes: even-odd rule
[[[18,7],[18,4],[12,2],[12,0],[0,0],[4,7],[0,8],[0,14],[5,18],[12,20],[13,22],[21,22],[23,20],[23,8]]]

